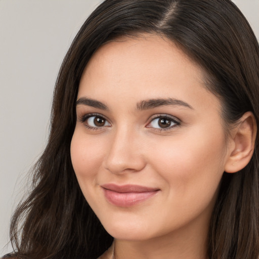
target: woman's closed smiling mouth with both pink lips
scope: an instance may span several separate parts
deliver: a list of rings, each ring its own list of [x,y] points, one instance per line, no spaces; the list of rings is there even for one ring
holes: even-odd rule
[[[107,201],[115,206],[130,207],[156,195],[160,190],[139,185],[105,184],[101,186]]]

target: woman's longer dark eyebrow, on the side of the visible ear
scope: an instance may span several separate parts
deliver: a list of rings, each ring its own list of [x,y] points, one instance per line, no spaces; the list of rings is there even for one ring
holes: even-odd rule
[[[184,107],[194,110],[190,104],[188,104],[182,100],[175,99],[175,98],[143,100],[137,104],[137,109],[138,110],[147,110],[147,109],[152,109],[155,107],[167,106],[167,105],[184,106]]]

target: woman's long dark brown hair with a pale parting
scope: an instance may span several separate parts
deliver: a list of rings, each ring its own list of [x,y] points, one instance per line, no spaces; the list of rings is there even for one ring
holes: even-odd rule
[[[62,63],[48,145],[34,167],[33,190],[11,223],[20,258],[97,258],[112,243],[78,186],[70,158],[79,80],[110,39],[148,32],[166,36],[206,71],[225,124],[252,111],[259,125],[259,47],[230,0],[106,0],[85,21]],[[258,134],[249,164],[224,173],[208,233],[211,259],[259,255]]]

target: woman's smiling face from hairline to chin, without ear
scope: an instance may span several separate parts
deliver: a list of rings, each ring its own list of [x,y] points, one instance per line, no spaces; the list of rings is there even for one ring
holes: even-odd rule
[[[228,145],[202,70],[156,35],[102,46],[85,68],[71,158],[115,238],[207,231]]]

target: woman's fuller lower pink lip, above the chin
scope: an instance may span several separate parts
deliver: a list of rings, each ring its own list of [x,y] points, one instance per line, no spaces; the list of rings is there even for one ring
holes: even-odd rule
[[[136,205],[140,202],[143,202],[154,195],[157,194],[158,191],[151,192],[126,192],[120,193],[107,189],[104,190],[104,195],[106,199],[113,205],[119,207],[130,207]]]

